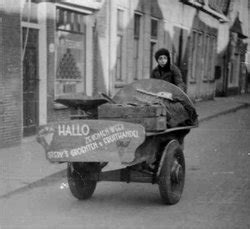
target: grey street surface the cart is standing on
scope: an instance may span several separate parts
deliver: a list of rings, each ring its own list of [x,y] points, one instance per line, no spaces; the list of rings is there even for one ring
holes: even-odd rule
[[[157,185],[103,182],[78,201],[65,178],[0,199],[0,228],[250,228],[250,108],[200,124],[185,138],[181,201]],[[45,158],[44,158],[45,159]]]

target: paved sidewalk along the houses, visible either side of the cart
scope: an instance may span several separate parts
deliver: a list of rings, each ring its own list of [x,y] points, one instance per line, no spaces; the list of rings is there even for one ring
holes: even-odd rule
[[[200,122],[247,106],[250,94],[195,104]],[[65,175],[66,165],[49,163],[35,137],[24,138],[19,146],[0,149],[0,157],[0,198]]]

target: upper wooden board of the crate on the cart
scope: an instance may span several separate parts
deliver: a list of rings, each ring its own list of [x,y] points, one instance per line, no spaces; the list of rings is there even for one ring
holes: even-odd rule
[[[98,107],[98,117],[101,118],[142,118],[166,116],[166,108],[161,105],[128,105],[103,104]]]

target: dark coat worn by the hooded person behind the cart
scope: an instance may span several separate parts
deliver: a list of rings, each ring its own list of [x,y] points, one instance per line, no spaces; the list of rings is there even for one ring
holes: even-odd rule
[[[185,91],[185,84],[182,80],[182,75],[180,70],[174,65],[171,64],[169,70],[162,69],[159,65],[153,69],[151,73],[151,78],[153,79],[161,79],[167,82],[170,82],[183,91]]]

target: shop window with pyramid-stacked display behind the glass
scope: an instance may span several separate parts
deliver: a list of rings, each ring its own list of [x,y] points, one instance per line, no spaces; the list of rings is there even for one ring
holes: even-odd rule
[[[85,92],[84,15],[57,8],[56,95]]]

